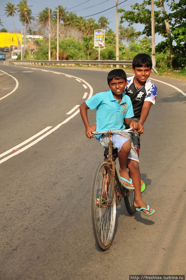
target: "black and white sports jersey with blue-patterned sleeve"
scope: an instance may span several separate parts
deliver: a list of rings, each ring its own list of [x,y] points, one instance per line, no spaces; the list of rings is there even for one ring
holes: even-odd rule
[[[134,77],[127,78],[128,84],[125,88],[125,94],[131,98],[134,118],[140,118],[144,101],[150,101],[152,104],[155,104],[157,87],[155,83],[147,79],[145,84],[138,89],[133,82]]]

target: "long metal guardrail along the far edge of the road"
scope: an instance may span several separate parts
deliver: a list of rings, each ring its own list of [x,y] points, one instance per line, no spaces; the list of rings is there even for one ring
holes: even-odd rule
[[[91,65],[132,65],[132,60],[10,60],[10,63],[16,65],[58,65],[58,66],[74,66],[75,64]],[[154,67],[152,71],[157,73]],[[157,73],[158,74],[158,73]]]

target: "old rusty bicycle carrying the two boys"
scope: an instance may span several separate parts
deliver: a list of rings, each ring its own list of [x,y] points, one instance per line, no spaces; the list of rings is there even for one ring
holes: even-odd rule
[[[91,213],[92,225],[96,243],[102,250],[107,250],[113,241],[116,221],[116,206],[124,198],[126,210],[133,214],[134,191],[124,188],[116,172],[116,162],[113,159],[112,133],[133,132],[133,129],[93,131],[92,134],[107,133],[109,135],[108,159],[99,163],[95,169],[91,188]]]

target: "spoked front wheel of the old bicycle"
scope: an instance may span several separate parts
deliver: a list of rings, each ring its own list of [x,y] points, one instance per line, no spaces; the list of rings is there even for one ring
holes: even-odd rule
[[[102,162],[95,170],[91,191],[93,232],[98,247],[112,244],[116,221],[116,193],[109,164]]]

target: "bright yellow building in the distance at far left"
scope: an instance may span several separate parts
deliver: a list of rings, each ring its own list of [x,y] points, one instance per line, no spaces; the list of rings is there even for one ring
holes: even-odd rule
[[[21,33],[0,32],[0,47],[10,47],[11,45],[21,46]]]

